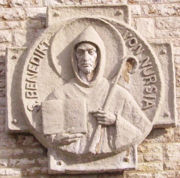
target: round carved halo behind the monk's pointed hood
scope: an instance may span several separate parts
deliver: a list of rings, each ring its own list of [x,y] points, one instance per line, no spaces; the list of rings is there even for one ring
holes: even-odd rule
[[[73,42],[88,26],[93,26],[106,49],[106,66],[104,76],[111,79],[118,71],[119,63],[125,56],[125,45],[121,34],[110,23],[97,18],[73,18],[61,26],[55,34],[51,45],[51,60],[57,74],[65,81],[74,77],[71,66]]]

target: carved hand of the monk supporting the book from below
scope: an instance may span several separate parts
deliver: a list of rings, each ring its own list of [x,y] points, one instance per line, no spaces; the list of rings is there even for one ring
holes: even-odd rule
[[[56,134],[54,137],[54,142],[58,145],[69,145],[73,142],[78,141],[83,134],[81,133],[76,133],[76,134],[69,134],[69,133],[64,133],[64,134]]]

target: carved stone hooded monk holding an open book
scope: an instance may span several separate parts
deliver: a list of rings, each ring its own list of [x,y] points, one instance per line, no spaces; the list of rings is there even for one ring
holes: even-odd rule
[[[43,132],[62,151],[108,155],[141,142],[149,132],[144,128],[151,122],[125,88],[115,86],[108,107],[103,109],[111,87],[103,77],[106,50],[94,28],[85,29],[72,49],[75,77],[56,88],[42,104]],[[100,138],[93,143],[98,125]]]

